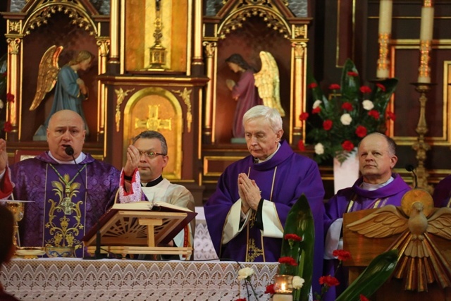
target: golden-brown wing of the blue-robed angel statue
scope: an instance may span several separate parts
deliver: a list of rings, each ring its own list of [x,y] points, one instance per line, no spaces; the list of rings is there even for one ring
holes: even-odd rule
[[[30,106],[30,111],[35,110],[45,95],[50,92],[56,84],[58,78],[59,66],[58,59],[59,54],[63,51],[62,46],[53,45],[42,56],[41,63],[39,63],[39,71],[37,73],[37,85],[35,98]]]

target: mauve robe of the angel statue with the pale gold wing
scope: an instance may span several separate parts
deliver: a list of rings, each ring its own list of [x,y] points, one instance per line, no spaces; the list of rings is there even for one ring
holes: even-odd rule
[[[252,70],[246,70],[241,74],[240,80],[232,90],[232,97],[237,99],[235,117],[233,118],[233,137],[245,137],[245,128],[242,125],[242,116],[252,108],[263,104],[259,97],[257,87],[255,87],[254,73]]]

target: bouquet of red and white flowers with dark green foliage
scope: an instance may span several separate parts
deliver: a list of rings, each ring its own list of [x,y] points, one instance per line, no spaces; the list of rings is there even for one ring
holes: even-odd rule
[[[302,112],[299,119],[311,125],[307,142],[314,144],[315,160],[321,163],[336,157],[345,161],[367,134],[385,133],[386,123],[395,121],[395,114],[387,111],[387,106],[396,85],[396,78],[380,80],[373,87],[361,85],[359,72],[350,59],[342,69],[340,85],[328,87],[328,97],[314,78],[309,79],[308,88],[316,100],[310,113]],[[311,122],[315,119],[319,125]]]

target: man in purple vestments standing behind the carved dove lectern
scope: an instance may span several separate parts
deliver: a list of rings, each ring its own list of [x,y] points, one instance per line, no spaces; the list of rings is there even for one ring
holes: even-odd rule
[[[342,216],[347,212],[381,208],[386,205],[400,206],[404,194],[411,188],[401,176],[393,173],[397,162],[396,144],[390,137],[372,133],[360,142],[357,156],[362,176],[350,188],[339,190],[326,203],[324,230],[325,275],[334,276],[338,260],[333,250],[342,249]],[[352,255],[352,254],[351,254]],[[342,269],[342,267],[340,267]],[[347,274],[336,275],[340,285],[330,288],[326,300],[335,300],[347,286]]]

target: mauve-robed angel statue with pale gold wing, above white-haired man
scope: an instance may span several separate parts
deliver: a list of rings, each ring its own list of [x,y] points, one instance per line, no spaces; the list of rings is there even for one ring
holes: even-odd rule
[[[242,58],[240,54],[232,54],[226,59],[230,70],[241,73],[240,80],[226,80],[226,85],[232,91],[232,97],[237,101],[233,120],[233,137],[245,137],[242,116],[253,106],[264,104],[278,109],[281,116],[285,116],[280,105],[279,72],[276,60],[266,51],[260,52],[261,70],[255,73],[254,68]],[[257,91],[258,87],[258,91]]]

